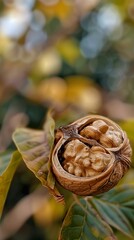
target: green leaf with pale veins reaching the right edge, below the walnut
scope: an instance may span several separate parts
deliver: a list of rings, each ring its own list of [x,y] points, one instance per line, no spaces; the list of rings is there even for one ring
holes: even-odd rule
[[[89,201],[111,227],[134,238],[134,185],[115,188]]]

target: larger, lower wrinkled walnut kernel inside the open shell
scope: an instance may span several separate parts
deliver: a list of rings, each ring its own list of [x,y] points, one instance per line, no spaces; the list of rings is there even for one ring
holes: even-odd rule
[[[78,139],[65,146],[63,168],[79,177],[96,176],[110,163],[111,156],[100,146],[89,147]]]

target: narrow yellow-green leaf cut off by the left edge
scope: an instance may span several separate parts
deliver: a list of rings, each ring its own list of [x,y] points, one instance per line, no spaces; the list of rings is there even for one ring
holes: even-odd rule
[[[13,154],[0,154],[0,216],[2,215],[7,193],[20,159],[21,155],[18,151]]]

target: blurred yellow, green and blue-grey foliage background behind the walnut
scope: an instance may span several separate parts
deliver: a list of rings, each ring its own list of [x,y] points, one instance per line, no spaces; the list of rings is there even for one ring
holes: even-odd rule
[[[133,0],[1,1],[0,151],[14,149],[16,127],[41,129],[48,108],[57,127],[104,114],[121,122],[134,145],[133,65]],[[123,181],[133,182],[133,174]],[[38,184],[22,163],[4,215]],[[55,240],[63,208],[45,200],[10,239]]]

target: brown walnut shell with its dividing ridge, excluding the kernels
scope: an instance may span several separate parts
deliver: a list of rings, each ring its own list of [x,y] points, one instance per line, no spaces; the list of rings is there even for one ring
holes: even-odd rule
[[[60,163],[60,153],[65,143],[71,139],[79,139],[92,146],[100,146],[94,139],[82,137],[79,133],[84,126],[95,120],[103,120],[122,134],[122,143],[116,148],[105,148],[111,155],[111,162],[106,170],[94,177],[77,177],[65,171]],[[101,146],[102,147],[102,146]],[[104,147],[103,147],[104,148]],[[61,127],[55,135],[52,151],[52,169],[57,181],[67,190],[81,196],[97,195],[113,188],[130,167],[132,150],[126,133],[113,121],[99,115],[89,115],[72,124]]]

